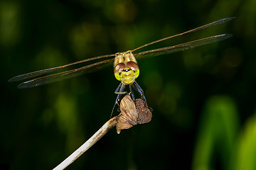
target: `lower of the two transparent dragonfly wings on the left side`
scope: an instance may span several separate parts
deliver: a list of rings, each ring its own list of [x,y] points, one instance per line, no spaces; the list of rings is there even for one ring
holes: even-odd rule
[[[82,74],[90,73],[90,72],[95,72],[98,69],[103,69],[106,67],[110,67],[114,62],[114,59],[110,60],[105,60],[102,62],[96,62],[94,64],[90,64],[84,67],[80,67],[78,69],[72,69],[66,72],[60,72],[56,74],[51,74],[45,77],[39,77],[37,79],[32,79],[30,81],[25,81],[22,84],[18,85],[18,89],[23,89],[23,88],[31,88],[34,86],[41,86],[43,84],[49,84],[53,83],[55,81],[60,81],[63,79],[69,79],[71,77],[78,77]]]

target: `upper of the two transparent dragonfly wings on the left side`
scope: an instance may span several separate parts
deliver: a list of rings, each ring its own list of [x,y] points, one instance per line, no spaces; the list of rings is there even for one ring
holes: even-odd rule
[[[48,74],[50,72],[54,72],[58,69],[63,69],[65,67],[72,66],[72,65],[75,65],[75,64],[81,64],[81,63],[89,62],[89,61],[92,61],[92,60],[102,60],[102,59],[105,59],[105,58],[108,58],[108,57],[114,57],[114,55],[102,55],[102,56],[98,56],[98,57],[92,57],[92,58],[81,60],[81,61],[78,61],[78,62],[65,64],[65,65],[59,66],[59,67],[53,67],[53,68],[50,68],[50,69],[42,69],[42,70],[39,70],[39,71],[36,71],[36,72],[21,74],[21,75],[18,75],[16,77],[13,77],[13,78],[9,79],[9,81],[20,81],[20,80],[23,80],[23,79],[30,79],[30,78],[33,78],[33,77],[38,77],[38,76],[41,76],[41,75]]]

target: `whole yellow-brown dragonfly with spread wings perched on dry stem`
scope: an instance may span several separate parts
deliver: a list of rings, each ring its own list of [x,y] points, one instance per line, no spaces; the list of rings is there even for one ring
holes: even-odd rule
[[[102,55],[98,57],[92,57],[89,59],[81,60],[78,62],[73,62],[70,64],[65,64],[58,67],[53,67],[49,69],[42,69],[36,72],[30,72],[27,74],[21,74],[16,77],[13,77],[9,79],[9,81],[23,81],[25,79],[31,79],[28,81],[24,81],[23,83],[18,85],[18,89],[23,88],[31,88],[35,86],[41,86],[43,84],[49,84],[53,83],[55,81],[60,81],[63,79],[69,79],[71,77],[78,77],[82,74],[87,74],[90,72],[95,72],[97,70],[110,67],[111,65],[114,65],[114,77],[120,81],[119,86],[117,87],[116,91],[114,91],[115,94],[117,94],[116,101],[114,103],[114,106],[118,104],[118,101],[120,101],[120,97],[122,94],[126,94],[127,92],[124,91],[125,86],[129,86],[130,91],[132,92],[132,99],[134,100],[134,92],[132,89],[135,89],[135,91],[139,92],[139,94],[142,96],[144,101],[146,101],[146,98],[144,96],[144,92],[142,88],[139,86],[137,81],[137,77],[139,77],[139,67],[137,64],[137,59],[143,59],[146,57],[153,57],[158,55],[166,55],[173,52],[188,50],[193,47],[198,47],[201,45],[206,45],[212,42],[218,42],[220,40],[225,40],[227,38],[230,38],[231,34],[220,34],[220,35],[213,35],[208,38],[201,38],[198,40],[193,40],[190,42],[185,42],[179,45],[173,45],[169,47],[161,47],[154,50],[146,50],[143,52],[136,52],[137,50],[140,50],[146,46],[153,45],[157,42],[162,42],[164,40],[169,40],[171,38],[175,38],[181,35],[185,35],[187,33],[193,33],[198,30],[202,30],[211,26],[216,26],[222,23],[226,23],[228,21],[233,20],[235,17],[230,18],[223,18],[218,21],[214,21],[212,23],[208,23],[204,26],[199,26],[198,28],[194,28],[192,30],[188,30],[183,33],[178,33],[176,35],[171,35],[166,38],[162,38],[160,40],[155,40],[153,42],[149,42],[145,45],[142,45],[140,47],[135,48],[134,50],[128,50],[127,52],[117,52],[112,55]],[[99,61],[100,60],[100,61]],[[85,64],[87,62],[92,62],[92,64]],[[114,64],[113,64],[114,63]],[[59,69],[63,69],[65,67],[75,66],[77,64],[85,64],[83,67],[78,67],[77,69],[70,69],[68,71],[58,72],[55,74],[46,75],[52,72],[55,72]],[[37,77],[37,78],[36,78]]]

